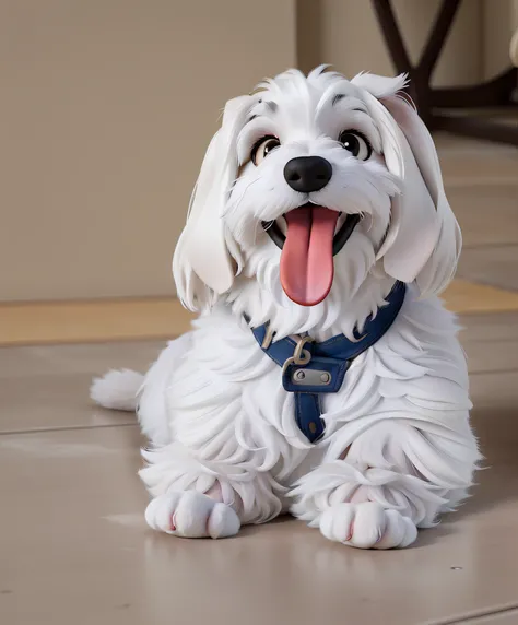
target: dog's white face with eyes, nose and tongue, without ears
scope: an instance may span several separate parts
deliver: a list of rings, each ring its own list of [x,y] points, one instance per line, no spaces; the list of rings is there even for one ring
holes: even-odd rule
[[[306,79],[290,86],[262,93],[238,133],[240,166],[224,219],[248,264],[273,256],[287,297],[315,306],[345,246],[362,239],[362,256],[374,263],[399,186],[357,87],[326,90]]]

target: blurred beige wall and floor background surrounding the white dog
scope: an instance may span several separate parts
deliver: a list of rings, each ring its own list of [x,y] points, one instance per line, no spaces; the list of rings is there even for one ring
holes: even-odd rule
[[[518,0],[0,0],[2,625],[518,623],[517,31]],[[145,372],[189,327],[170,261],[225,102],[322,62],[411,69],[463,232],[444,297],[491,470],[410,550],[286,519],[158,535],[146,441],[92,377]]]

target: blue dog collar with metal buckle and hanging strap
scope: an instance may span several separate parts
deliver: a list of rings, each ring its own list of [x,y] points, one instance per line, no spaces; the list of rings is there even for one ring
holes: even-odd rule
[[[326,427],[319,394],[340,390],[354,358],[379,341],[396,320],[405,291],[404,283],[396,282],[386,297],[387,304],[365,320],[363,334],[354,331],[354,341],[338,334],[323,343],[316,343],[310,337],[272,342],[268,323],[252,329],[261,350],[282,367],[282,385],[295,396],[296,423],[310,443],[318,440]]]

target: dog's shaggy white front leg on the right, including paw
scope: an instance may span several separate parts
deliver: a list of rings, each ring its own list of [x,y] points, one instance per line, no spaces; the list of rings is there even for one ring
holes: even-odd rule
[[[434,526],[472,484],[476,443],[467,415],[454,417],[457,431],[404,420],[370,426],[298,481],[291,511],[346,545],[410,545],[417,528]]]

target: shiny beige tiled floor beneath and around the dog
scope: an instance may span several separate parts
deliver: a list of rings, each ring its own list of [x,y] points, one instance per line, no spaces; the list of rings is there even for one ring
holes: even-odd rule
[[[462,276],[516,288],[518,151],[438,142]],[[455,288],[487,469],[458,514],[400,552],[342,547],[289,519],[226,541],[151,532],[134,418],[92,406],[87,386],[108,366],[145,368],[162,342],[0,350],[0,623],[518,624],[518,300]]]

